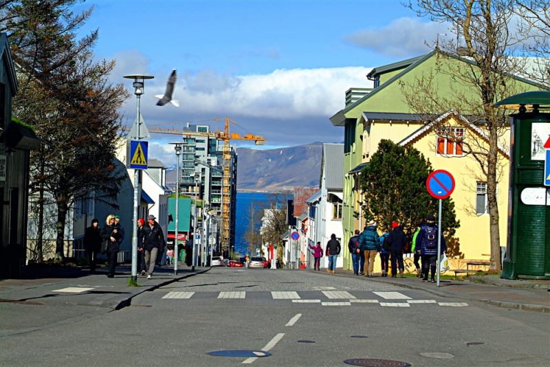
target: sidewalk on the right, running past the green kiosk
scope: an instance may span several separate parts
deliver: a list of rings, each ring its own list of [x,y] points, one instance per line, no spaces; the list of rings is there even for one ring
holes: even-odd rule
[[[311,270],[313,271],[313,270]],[[320,274],[326,274],[321,271]],[[329,274],[327,274],[328,276]],[[549,280],[508,280],[498,276],[467,276],[467,280],[440,280],[437,283],[422,282],[420,278],[391,278],[374,274],[373,278],[354,276],[353,271],[338,270],[336,275],[362,278],[367,282],[385,282],[398,287],[432,293],[444,298],[458,298],[485,302],[506,309],[518,309],[541,313],[550,313]]]

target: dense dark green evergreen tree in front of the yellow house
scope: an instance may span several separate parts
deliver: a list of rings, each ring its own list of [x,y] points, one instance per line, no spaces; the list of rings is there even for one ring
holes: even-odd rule
[[[378,227],[386,230],[397,221],[411,236],[417,223],[424,222],[428,214],[437,216],[439,210],[438,199],[426,188],[432,172],[430,162],[415,148],[382,140],[360,175],[365,218],[375,219]],[[452,236],[460,227],[450,198],[442,203],[441,227],[445,236]]]

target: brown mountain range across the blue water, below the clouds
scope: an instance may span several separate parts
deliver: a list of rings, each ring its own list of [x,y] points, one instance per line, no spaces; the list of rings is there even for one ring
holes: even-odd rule
[[[277,149],[236,148],[237,190],[279,191],[318,187],[322,143]],[[175,186],[175,167],[166,170],[166,183]]]

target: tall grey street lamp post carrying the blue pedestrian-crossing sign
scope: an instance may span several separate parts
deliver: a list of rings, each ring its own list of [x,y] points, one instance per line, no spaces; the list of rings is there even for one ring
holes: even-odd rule
[[[143,121],[142,114],[140,112],[140,99],[144,93],[144,81],[145,79],[153,79],[154,76],[133,74],[125,75],[126,79],[133,79],[134,94],[137,98],[137,118],[135,119],[134,126],[130,131],[130,138],[135,140],[143,140],[148,137],[148,131]],[[143,124],[143,126],[141,126]],[[143,127],[143,129],[142,129]],[[142,170],[135,169],[133,177],[133,230],[132,230],[132,273],[131,280],[137,280],[137,208],[140,205],[140,182],[142,181]]]

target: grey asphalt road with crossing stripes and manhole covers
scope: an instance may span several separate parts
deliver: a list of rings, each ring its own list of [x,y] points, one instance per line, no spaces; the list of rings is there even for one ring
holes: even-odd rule
[[[17,304],[8,307],[14,309],[3,309],[1,317],[16,317]],[[142,293],[119,311],[58,308],[75,318],[1,338],[2,366],[346,366],[347,359],[550,364],[548,314],[325,271],[214,268]],[[39,319],[40,310],[21,317]],[[272,355],[208,354],[233,350]]]

